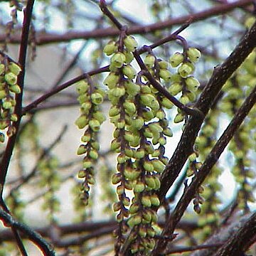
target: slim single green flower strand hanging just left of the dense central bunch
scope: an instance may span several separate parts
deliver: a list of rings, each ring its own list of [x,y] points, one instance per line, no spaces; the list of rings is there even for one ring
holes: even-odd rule
[[[92,81],[82,80],[77,84],[78,101],[80,103],[80,117],[75,121],[79,129],[85,129],[81,137],[82,144],[78,147],[77,154],[83,155],[82,169],[78,178],[84,178],[82,184],[82,199],[87,205],[90,185],[95,183],[94,165],[98,158],[100,144],[97,142],[97,133],[100,125],[105,121],[105,116],[100,111],[100,104],[104,100],[105,92],[92,85]]]

